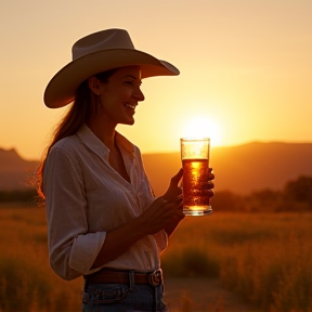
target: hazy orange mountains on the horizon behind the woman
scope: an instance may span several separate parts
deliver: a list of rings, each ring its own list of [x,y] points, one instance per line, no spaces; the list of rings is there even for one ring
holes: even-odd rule
[[[299,176],[312,177],[312,143],[248,143],[213,147],[210,167],[216,174],[214,191],[247,194],[282,190]],[[180,154],[144,154],[144,167],[157,196],[181,167]],[[38,161],[27,161],[15,150],[0,148],[0,190],[29,187]]]

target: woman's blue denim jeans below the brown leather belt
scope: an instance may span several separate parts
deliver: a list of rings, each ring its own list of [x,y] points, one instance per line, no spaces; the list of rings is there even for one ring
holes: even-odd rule
[[[84,286],[82,312],[167,312],[164,285],[90,284]]]

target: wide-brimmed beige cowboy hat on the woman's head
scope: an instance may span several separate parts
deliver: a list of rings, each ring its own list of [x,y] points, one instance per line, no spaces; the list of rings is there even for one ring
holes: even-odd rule
[[[44,103],[50,108],[69,104],[80,83],[112,68],[139,65],[142,78],[180,74],[170,63],[135,50],[123,29],[91,34],[78,40],[72,51],[73,61],[56,73],[46,88]]]

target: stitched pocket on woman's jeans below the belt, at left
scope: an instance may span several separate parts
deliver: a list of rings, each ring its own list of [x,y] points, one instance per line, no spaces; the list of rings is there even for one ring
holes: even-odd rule
[[[127,298],[129,288],[110,284],[92,285],[83,291],[82,302],[88,306],[120,302]]]

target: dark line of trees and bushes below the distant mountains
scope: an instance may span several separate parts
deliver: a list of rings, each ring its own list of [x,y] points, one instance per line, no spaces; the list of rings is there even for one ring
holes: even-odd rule
[[[0,203],[38,204],[37,191],[0,191]],[[40,202],[40,204],[42,204]],[[283,190],[259,190],[248,195],[231,191],[217,191],[211,205],[216,211],[233,212],[283,212],[312,211],[312,177],[301,176],[285,183]]]

